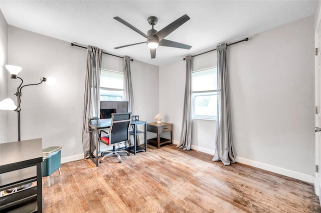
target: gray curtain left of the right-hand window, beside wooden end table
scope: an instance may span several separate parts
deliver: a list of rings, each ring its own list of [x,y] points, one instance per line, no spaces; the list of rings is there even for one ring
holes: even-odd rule
[[[177,145],[179,148],[185,150],[191,149],[192,140],[192,56],[186,56],[186,82],[185,82],[185,97],[184,97],[184,109],[183,109],[183,123],[182,134],[180,143]]]

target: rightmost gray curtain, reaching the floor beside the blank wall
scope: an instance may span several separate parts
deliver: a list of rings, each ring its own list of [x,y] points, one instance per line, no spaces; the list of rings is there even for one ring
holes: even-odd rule
[[[224,165],[235,162],[231,131],[228,79],[225,56],[226,43],[217,46],[217,121],[215,152],[212,160],[221,160]]]

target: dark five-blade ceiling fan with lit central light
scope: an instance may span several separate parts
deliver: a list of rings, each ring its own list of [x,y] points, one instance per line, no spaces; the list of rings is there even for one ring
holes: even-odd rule
[[[139,29],[137,29],[136,27],[134,27],[133,25],[131,25],[130,23],[121,19],[118,16],[114,17],[114,19],[118,20],[119,22],[128,26],[129,28],[131,28],[135,32],[137,32],[137,33],[141,34],[142,36],[144,36],[145,38],[147,38],[147,40],[144,42],[132,43],[132,44],[127,44],[127,45],[123,45],[123,46],[117,46],[117,47],[114,47],[115,49],[119,49],[119,48],[126,47],[126,46],[132,46],[132,45],[136,45],[136,44],[140,44],[140,43],[147,43],[147,46],[150,49],[151,58],[155,58],[156,57],[156,48],[158,45],[159,46],[177,47],[177,48],[183,48],[183,49],[190,49],[192,47],[192,46],[184,44],[184,43],[179,43],[179,42],[175,42],[172,40],[164,39],[167,35],[169,35],[171,32],[173,32],[175,29],[177,29],[179,26],[181,26],[183,23],[185,23],[186,21],[188,21],[190,19],[190,17],[187,14],[176,19],[175,21],[173,21],[172,23],[165,26],[163,29],[161,29],[159,31],[154,29],[154,25],[157,23],[158,18],[155,16],[149,16],[147,18],[147,21],[151,25],[151,29],[149,29],[147,31],[147,34],[143,33],[142,31],[140,31]]]

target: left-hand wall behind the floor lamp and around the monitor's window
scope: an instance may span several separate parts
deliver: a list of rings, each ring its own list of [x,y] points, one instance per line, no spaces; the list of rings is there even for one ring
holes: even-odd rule
[[[22,91],[21,139],[42,137],[43,147],[62,145],[62,161],[83,157],[82,124],[83,95],[87,50],[70,42],[44,36],[9,25],[9,63],[23,67],[19,76],[24,83],[40,82],[41,76],[55,76],[55,86],[46,83],[27,86]],[[102,67],[122,71],[122,58],[103,54]],[[150,99],[151,107],[158,105],[158,67],[139,61],[132,62],[135,93]],[[15,101],[19,79],[9,79],[9,96]],[[157,87],[145,89],[145,85]],[[136,112],[141,119],[152,119],[150,109],[138,94]],[[138,96],[137,96],[138,95]],[[143,102],[141,102],[143,101]],[[17,140],[17,113],[9,113],[8,141]]]

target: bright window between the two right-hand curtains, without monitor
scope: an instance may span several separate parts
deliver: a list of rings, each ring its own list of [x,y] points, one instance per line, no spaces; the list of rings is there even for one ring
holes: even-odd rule
[[[217,67],[192,72],[193,118],[216,119]]]

